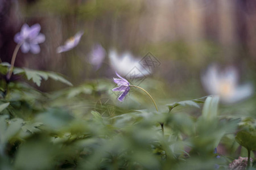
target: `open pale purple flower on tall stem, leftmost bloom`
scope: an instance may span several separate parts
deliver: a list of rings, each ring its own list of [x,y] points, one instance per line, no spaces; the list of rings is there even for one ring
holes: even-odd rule
[[[46,40],[46,36],[40,33],[40,30],[41,26],[39,24],[34,24],[31,27],[23,24],[20,32],[16,33],[14,41],[21,44],[23,53],[28,53],[29,51],[33,54],[40,53],[40,46],[38,44]]]

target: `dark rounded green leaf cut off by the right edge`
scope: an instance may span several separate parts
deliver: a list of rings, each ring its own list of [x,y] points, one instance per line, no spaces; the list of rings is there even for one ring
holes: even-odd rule
[[[255,151],[256,150],[256,134],[249,133],[247,131],[238,131],[236,136],[236,141],[247,148],[247,150]]]

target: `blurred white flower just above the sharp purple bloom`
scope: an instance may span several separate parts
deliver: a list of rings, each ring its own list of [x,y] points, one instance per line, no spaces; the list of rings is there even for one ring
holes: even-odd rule
[[[115,50],[110,50],[109,59],[112,68],[123,76],[129,74],[131,70],[134,70],[134,67],[136,67],[136,70],[139,70],[140,72],[137,77],[150,74],[140,65],[140,59],[134,58],[133,55],[129,52],[118,56]]]

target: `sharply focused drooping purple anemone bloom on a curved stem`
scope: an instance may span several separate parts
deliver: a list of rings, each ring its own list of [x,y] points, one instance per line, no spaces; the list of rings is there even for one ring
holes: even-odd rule
[[[122,78],[122,76],[117,74],[117,71],[115,71],[115,74],[121,79],[114,78],[114,82],[117,83],[118,87],[113,88],[112,91],[122,91],[122,94],[118,97],[118,100],[123,101],[123,99],[125,99],[125,96],[130,91],[130,83],[126,79]]]

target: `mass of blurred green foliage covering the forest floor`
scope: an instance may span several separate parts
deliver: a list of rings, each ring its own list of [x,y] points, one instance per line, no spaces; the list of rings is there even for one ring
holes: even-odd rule
[[[1,73],[8,67],[2,63]],[[38,86],[48,78],[71,85],[47,71],[14,71]],[[0,169],[227,168],[237,157],[238,143],[255,150],[255,118],[222,114],[217,96],[177,101],[166,105],[169,111],[160,106],[156,112],[138,102],[143,95],[132,94],[127,103],[118,103],[110,80],[56,92],[40,92],[19,81],[5,85],[6,95],[0,99]],[[132,109],[136,107],[140,109]],[[242,131],[236,143],[238,128]],[[230,155],[217,159],[213,151],[219,144]]]

